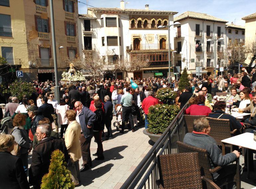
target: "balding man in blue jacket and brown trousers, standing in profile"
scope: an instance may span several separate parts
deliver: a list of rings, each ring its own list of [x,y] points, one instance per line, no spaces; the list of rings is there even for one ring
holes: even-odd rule
[[[82,151],[83,167],[80,172],[90,169],[91,164],[91,138],[93,136],[93,124],[96,121],[96,115],[80,101],[75,102],[76,121],[81,126],[80,144]]]

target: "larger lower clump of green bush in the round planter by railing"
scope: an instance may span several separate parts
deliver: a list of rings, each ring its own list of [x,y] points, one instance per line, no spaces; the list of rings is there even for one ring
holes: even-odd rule
[[[179,113],[180,108],[176,105],[157,104],[149,108],[148,132],[162,134]]]

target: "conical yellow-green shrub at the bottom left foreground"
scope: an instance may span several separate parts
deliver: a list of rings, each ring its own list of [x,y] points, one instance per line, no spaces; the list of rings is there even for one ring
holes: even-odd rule
[[[61,150],[52,153],[49,173],[42,179],[41,189],[74,189],[71,173],[66,168],[64,154]]]

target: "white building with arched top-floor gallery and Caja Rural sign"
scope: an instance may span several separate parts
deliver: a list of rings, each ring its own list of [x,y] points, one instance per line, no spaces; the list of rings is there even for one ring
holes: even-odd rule
[[[168,30],[160,25],[173,24],[178,12],[145,9],[126,9],[124,1],[120,8],[88,8],[86,15],[79,15],[79,49],[98,53],[105,63],[113,66],[117,61],[130,60],[143,53],[150,65],[142,70],[130,71],[127,77],[168,76]],[[171,27],[171,49],[174,50]],[[80,54],[82,55],[82,54]],[[172,56],[171,56],[172,57]],[[114,73],[104,70],[104,76],[124,78],[124,71]]]

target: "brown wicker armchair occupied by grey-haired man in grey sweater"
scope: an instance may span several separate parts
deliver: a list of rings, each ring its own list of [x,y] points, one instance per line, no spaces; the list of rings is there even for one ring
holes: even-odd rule
[[[185,144],[183,142],[178,141],[178,150],[180,153],[184,152],[198,152],[199,157],[199,165],[201,169],[201,175],[206,176],[208,179],[213,181],[213,173],[217,172],[221,169],[220,166],[215,167],[214,169],[210,168],[210,161],[209,161],[209,155],[207,153],[206,149],[194,147],[188,144]],[[234,176],[234,180],[227,181],[225,178],[222,180],[218,180],[215,182],[219,187],[222,187],[229,182],[236,182],[237,189],[241,188],[241,176],[240,176],[240,166],[239,166],[239,158],[236,159],[236,174]]]

